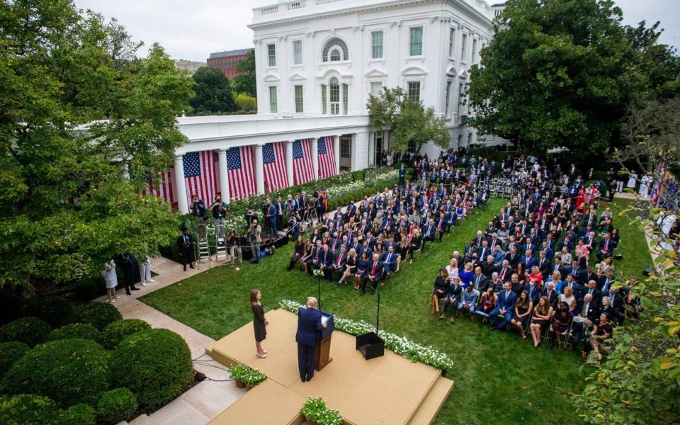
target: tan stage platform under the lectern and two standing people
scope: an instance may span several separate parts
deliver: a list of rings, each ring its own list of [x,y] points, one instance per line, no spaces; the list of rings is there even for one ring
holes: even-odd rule
[[[224,365],[244,363],[268,377],[210,424],[302,424],[299,410],[310,396],[322,397],[347,424],[431,424],[453,388],[453,381],[437,368],[412,363],[392,351],[366,361],[356,350],[355,337],[338,330],[331,342],[333,361],[310,382],[302,382],[297,371],[297,316],[284,310],[266,316],[267,358],[255,354],[252,323],[206,348]]]

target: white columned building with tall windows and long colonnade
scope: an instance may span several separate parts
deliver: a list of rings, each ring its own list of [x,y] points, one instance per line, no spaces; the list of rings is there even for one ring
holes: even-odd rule
[[[387,132],[370,132],[365,106],[382,87],[401,86],[433,106],[446,118],[451,145],[470,145],[477,137],[465,125],[465,84],[492,38],[493,17],[484,0],[295,0],[255,8],[249,28],[259,113],[180,118],[191,142],[178,150],[176,169],[181,154],[211,149],[222,152],[223,171],[225,149],[256,145],[257,192],[263,193],[263,144],[288,142],[292,185],[293,141],[322,136],[334,137],[338,169],[371,166],[377,153],[389,149]],[[434,145],[421,149],[431,157],[439,151]],[[226,174],[217,179],[221,188],[227,187]],[[179,177],[176,198],[186,210]]]

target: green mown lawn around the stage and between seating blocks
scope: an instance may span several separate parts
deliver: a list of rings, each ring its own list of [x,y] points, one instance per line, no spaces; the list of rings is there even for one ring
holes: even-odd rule
[[[382,288],[380,327],[434,346],[453,358],[455,366],[447,376],[455,386],[437,424],[574,424],[579,420],[570,394],[580,391],[587,373],[581,370],[583,362],[577,353],[534,349],[516,331],[492,332],[488,325],[467,318],[450,324],[429,312],[437,269],[446,266],[451,252],[462,250],[504,202],[492,200],[487,212],[470,217],[453,234],[445,236],[442,244],[407,265]],[[623,220],[615,224],[625,237],[625,263],[642,256],[646,250],[630,237]],[[253,287],[262,291],[265,310],[276,309],[279,300],[303,302],[308,295],[316,295],[314,278],[300,271],[285,271],[292,249],[289,244],[273,258],[256,266],[244,264],[238,272],[224,266],[213,268],[150,293],[142,301],[220,339],[251,321],[248,295]],[[635,265],[630,269],[638,273],[638,268]],[[351,285],[338,288],[322,283],[322,300],[324,310],[339,317],[375,320],[375,297],[360,297]]]

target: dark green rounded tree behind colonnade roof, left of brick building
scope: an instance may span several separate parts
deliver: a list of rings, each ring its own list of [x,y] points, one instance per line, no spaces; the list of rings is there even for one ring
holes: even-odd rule
[[[196,81],[196,86],[193,86],[196,96],[189,102],[193,111],[220,113],[237,110],[229,79],[220,69],[200,67],[192,77]]]

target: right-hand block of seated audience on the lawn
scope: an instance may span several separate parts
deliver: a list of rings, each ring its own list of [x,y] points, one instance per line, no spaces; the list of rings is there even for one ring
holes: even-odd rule
[[[482,317],[494,330],[531,336],[535,347],[548,336],[551,348],[571,338],[570,347],[583,342],[584,356],[591,350],[601,356],[626,305],[642,308],[630,281],[615,278],[621,239],[611,210],[597,212],[598,196],[579,199],[588,188],[575,166],[562,171],[520,161],[512,168],[503,166],[507,175],[523,176],[516,196],[441,268],[431,313],[441,310],[450,322],[458,314]]]

